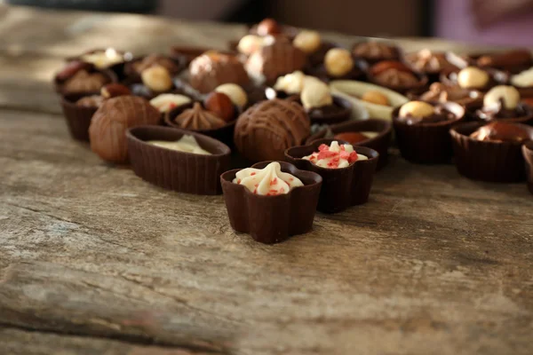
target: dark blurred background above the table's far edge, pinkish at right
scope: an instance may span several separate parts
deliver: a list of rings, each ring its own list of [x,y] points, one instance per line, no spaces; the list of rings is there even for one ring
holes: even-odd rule
[[[0,3],[2,1],[0,0]],[[533,46],[533,0],[4,0],[9,4],[139,12],[187,20],[259,22],[357,36],[437,36]]]

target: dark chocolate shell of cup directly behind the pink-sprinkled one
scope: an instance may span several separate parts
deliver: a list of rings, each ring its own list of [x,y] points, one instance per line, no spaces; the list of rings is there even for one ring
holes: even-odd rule
[[[374,149],[379,154],[378,170],[382,169],[388,160],[388,148],[391,146],[393,138],[393,124],[391,122],[370,118],[363,121],[350,121],[338,123],[330,126],[329,129],[320,130],[311,137],[307,138],[306,144],[311,144],[317,139],[330,138],[326,137],[328,133],[336,135],[343,132],[378,132],[378,136],[369,138],[354,144],[354,146],[366,146]]]

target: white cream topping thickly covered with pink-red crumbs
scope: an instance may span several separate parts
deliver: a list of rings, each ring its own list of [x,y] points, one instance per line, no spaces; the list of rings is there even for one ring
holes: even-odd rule
[[[330,146],[322,144],[318,147],[318,152],[304,156],[302,159],[312,162],[314,165],[326,169],[342,169],[359,160],[365,161],[369,158],[366,155],[357,154],[354,146],[345,144],[339,145],[334,140]]]

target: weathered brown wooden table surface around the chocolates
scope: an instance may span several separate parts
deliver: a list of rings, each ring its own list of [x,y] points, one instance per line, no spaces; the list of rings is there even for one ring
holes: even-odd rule
[[[223,48],[243,32],[1,8],[0,353],[533,353],[522,184],[394,156],[366,205],[266,246],[233,232],[221,196],[148,185],[69,138],[50,88],[62,58]]]

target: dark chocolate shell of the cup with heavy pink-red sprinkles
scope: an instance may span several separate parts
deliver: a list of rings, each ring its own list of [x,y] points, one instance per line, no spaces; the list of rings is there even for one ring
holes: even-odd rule
[[[322,144],[330,146],[332,141],[339,144],[347,142],[341,139],[323,138],[315,140],[308,146],[294,146],[285,151],[285,160],[298,169],[309,170],[322,177],[322,190],[317,209],[323,213],[338,213],[350,206],[361,205],[369,200],[374,172],[378,165],[378,152],[365,146],[354,146],[357,154],[366,155],[366,161],[357,161],[341,169],[326,169],[302,159],[318,151]]]

